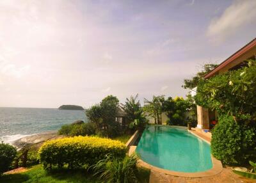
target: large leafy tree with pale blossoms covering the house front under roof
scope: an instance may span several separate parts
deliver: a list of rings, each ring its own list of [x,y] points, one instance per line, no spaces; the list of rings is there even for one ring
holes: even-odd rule
[[[256,64],[202,80],[195,96],[196,104],[241,118],[256,117]]]

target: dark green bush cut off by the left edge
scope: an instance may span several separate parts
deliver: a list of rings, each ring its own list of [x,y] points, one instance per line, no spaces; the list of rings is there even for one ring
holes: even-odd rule
[[[0,143],[0,175],[10,168],[10,165],[17,154],[17,150],[12,145]]]

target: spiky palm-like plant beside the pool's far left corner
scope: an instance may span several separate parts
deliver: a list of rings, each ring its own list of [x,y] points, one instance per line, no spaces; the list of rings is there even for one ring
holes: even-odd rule
[[[122,109],[126,113],[126,117],[129,120],[129,127],[131,129],[142,131],[147,124],[147,119],[143,113],[143,108],[138,100],[138,94],[136,97],[131,96],[130,99],[126,99],[125,104],[122,104]]]

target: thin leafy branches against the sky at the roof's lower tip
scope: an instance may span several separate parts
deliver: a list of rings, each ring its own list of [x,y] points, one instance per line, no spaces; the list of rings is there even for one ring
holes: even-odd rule
[[[200,79],[202,79],[202,77],[205,76],[205,74],[207,74],[208,72],[210,72],[212,69],[214,69],[215,67],[217,67],[218,65],[217,64],[205,64],[203,67],[202,67],[202,71],[198,72],[196,74],[196,76],[192,77],[191,79],[184,79],[184,85],[182,85],[182,88],[189,88],[189,89],[193,89],[195,88]]]

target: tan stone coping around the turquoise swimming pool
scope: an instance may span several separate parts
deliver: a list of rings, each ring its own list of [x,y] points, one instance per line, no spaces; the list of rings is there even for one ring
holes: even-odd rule
[[[191,132],[191,131],[189,131],[189,132]],[[211,143],[209,141],[206,141],[204,138],[201,138],[200,136],[197,136],[193,132],[191,132],[191,134],[195,135],[196,137],[204,140],[206,143],[211,145]],[[129,155],[131,155],[132,153],[135,152],[136,147],[137,146],[131,146],[130,147]],[[212,154],[211,154],[211,159],[212,159],[212,168],[210,170],[200,171],[200,172],[195,172],[195,173],[186,173],[186,172],[182,172],[182,171],[165,170],[163,168],[159,168],[159,167],[153,166],[151,164],[148,164],[148,163],[146,163],[145,161],[143,161],[141,159],[138,159],[138,166],[143,166],[144,168],[148,168],[150,170],[157,171],[159,173],[164,173],[164,174],[167,174],[167,175],[173,175],[173,176],[177,176],[177,177],[191,177],[191,178],[209,177],[209,176],[212,176],[212,175],[217,175],[218,173],[220,173],[223,170],[223,166],[222,166],[221,161],[219,161],[218,159],[213,157]]]

